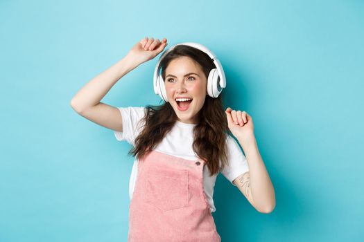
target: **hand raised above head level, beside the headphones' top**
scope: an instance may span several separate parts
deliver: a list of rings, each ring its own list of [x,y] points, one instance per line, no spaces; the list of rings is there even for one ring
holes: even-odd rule
[[[159,39],[153,39],[145,37],[132,46],[128,53],[128,57],[132,59],[132,62],[135,62],[137,65],[147,62],[150,59],[156,57],[159,53],[164,50],[164,47],[167,45],[167,39],[162,39],[162,42]]]

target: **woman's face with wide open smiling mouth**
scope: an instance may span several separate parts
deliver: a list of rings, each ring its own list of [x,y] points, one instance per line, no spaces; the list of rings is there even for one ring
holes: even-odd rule
[[[190,57],[178,57],[169,62],[164,80],[168,102],[177,120],[187,124],[198,123],[198,112],[205,103],[207,79],[202,68]],[[177,97],[187,97],[191,102],[178,102]]]

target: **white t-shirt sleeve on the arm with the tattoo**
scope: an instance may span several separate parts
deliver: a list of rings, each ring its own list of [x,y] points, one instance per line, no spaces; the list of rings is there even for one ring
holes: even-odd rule
[[[221,170],[221,174],[232,183],[235,178],[249,171],[248,162],[238,143],[231,136],[227,137],[227,165]],[[234,183],[232,183],[234,185]],[[236,186],[236,185],[234,185]]]

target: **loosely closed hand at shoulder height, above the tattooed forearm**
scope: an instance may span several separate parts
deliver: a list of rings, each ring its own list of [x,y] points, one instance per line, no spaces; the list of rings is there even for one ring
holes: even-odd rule
[[[254,124],[252,117],[245,111],[225,110],[227,126],[236,138],[250,140],[254,138]]]

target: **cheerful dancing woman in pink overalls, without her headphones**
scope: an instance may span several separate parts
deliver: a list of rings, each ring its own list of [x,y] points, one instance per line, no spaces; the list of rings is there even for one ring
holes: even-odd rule
[[[179,45],[164,56],[166,102],[160,106],[116,108],[100,102],[121,77],[166,45],[165,38],[141,39],[78,91],[71,106],[133,145],[128,241],[220,241],[211,215],[218,172],[259,212],[274,209],[275,192],[250,115],[224,111],[221,95],[208,95],[209,73],[216,68],[209,55]]]

